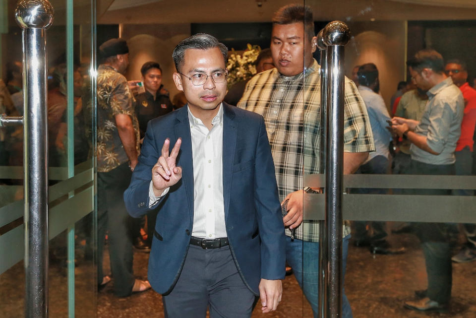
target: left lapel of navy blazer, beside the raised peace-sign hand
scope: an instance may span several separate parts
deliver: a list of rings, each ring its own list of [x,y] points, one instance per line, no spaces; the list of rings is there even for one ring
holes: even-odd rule
[[[182,167],[182,182],[187,193],[190,222],[193,223],[193,154],[187,105],[183,106],[177,112],[179,114],[177,114],[175,134],[177,139],[182,138],[179,153],[179,165]]]

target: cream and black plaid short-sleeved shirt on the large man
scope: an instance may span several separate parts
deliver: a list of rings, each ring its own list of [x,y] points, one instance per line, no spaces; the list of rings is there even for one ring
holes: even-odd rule
[[[303,188],[303,174],[320,169],[320,66],[314,60],[304,73],[284,76],[276,68],[257,74],[246,85],[238,107],[264,117],[276,167],[280,199]],[[365,104],[355,84],[345,79],[344,151],[374,150],[373,135]],[[344,236],[350,233],[344,226]],[[286,229],[286,235],[291,231]],[[296,238],[319,240],[319,222],[306,221],[296,229]]]

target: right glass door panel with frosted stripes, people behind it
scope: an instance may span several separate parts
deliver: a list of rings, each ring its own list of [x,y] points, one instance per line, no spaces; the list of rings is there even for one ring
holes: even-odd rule
[[[476,296],[471,290],[475,279],[471,262],[475,259],[475,115],[471,111],[471,97],[467,97],[471,96],[471,89],[467,87],[474,85],[476,75],[474,43],[468,41],[474,38],[476,30],[475,4],[438,1],[435,5],[416,0],[341,0],[332,6],[305,0],[305,4],[314,13],[316,33],[322,23],[333,20],[341,20],[350,28],[351,38],[341,64],[348,80],[347,105],[341,114],[344,157],[339,165],[346,171],[356,162],[349,161],[346,153],[356,151],[346,132],[346,127],[358,122],[350,120],[353,100],[358,99],[361,113],[368,115],[376,148],[355,172],[347,171],[352,174],[343,178],[341,210],[346,221],[342,236],[321,236],[336,242],[342,239],[344,268],[338,278],[345,287],[353,317],[419,317],[423,312],[435,311],[441,313],[439,317],[472,317],[471,304]],[[413,73],[406,62],[423,49],[441,54],[442,68],[414,64]],[[319,56],[320,52],[316,58]],[[426,72],[425,68],[432,68],[433,78],[439,80],[422,83],[418,76]],[[442,81],[445,83],[441,84]],[[311,88],[306,79],[304,85]],[[443,85],[458,99],[451,104],[452,115],[448,117],[438,113],[438,104],[435,106],[437,89],[441,90]],[[359,97],[349,98],[351,92],[358,92]],[[324,109],[321,105],[321,114]],[[328,119],[330,111],[327,109]],[[415,120],[415,127],[398,130],[402,121],[391,120],[395,116]],[[390,129],[393,133],[387,129],[390,126],[394,126]],[[447,153],[443,160],[443,155],[431,154],[431,147],[439,147],[432,143],[435,133],[442,130],[445,132],[436,139],[448,149],[443,151]],[[449,131],[456,131],[457,136]],[[354,134],[357,135],[355,131]],[[426,136],[425,143],[419,143],[417,140],[421,139],[416,134]],[[322,147],[306,148],[307,153],[316,155],[316,151],[326,149],[326,140],[332,138],[327,133],[320,139]],[[329,163],[327,168],[332,168]],[[307,169],[304,162],[303,186],[323,193],[304,194],[304,226],[323,220],[326,204],[332,203],[326,202],[325,170],[308,173]],[[304,243],[304,266],[319,261],[309,256],[311,249]],[[326,285],[332,283],[325,269],[321,266],[319,271],[324,282],[320,291],[324,293]],[[304,289],[313,279],[311,274],[304,274]],[[324,311],[330,295],[325,296]],[[342,317],[352,317],[345,298],[342,303]],[[305,305],[302,317],[312,317]]]

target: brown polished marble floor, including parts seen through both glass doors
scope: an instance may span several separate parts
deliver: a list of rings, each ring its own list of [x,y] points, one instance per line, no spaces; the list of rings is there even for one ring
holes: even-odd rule
[[[355,318],[475,318],[476,262],[453,264],[453,290],[448,313],[424,314],[403,307],[413,299],[414,290],[426,287],[424,259],[417,238],[411,234],[392,235],[395,248],[405,254],[370,254],[365,248],[351,246],[346,273],[346,292]],[[106,249],[107,251],[107,249]],[[149,290],[127,298],[117,298],[109,283],[102,291],[94,288],[92,261],[77,257],[75,269],[75,317],[91,318],[163,318],[161,296]],[[105,254],[105,266],[108,255]],[[135,252],[134,272],[147,277],[148,254]],[[108,268],[105,268],[109,270]],[[284,296],[276,312],[262,314],[255,308],[252,318],[311,318],[310,308],[294,276],[283,282]],[[23,314],[24,269],[20,262],[0,275],[0,318],[21,318]],[[68,317],[67,275],[64,263],[50,267],[50,317]]]

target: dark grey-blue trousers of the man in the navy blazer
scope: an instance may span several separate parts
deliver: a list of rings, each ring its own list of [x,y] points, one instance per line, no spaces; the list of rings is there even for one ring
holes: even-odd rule
[[[190,245],[176,285],[162,300],[167,318],[205,318],[207,307],[210,318],[249,318],[255,296],[239,276],[230,246]]]

